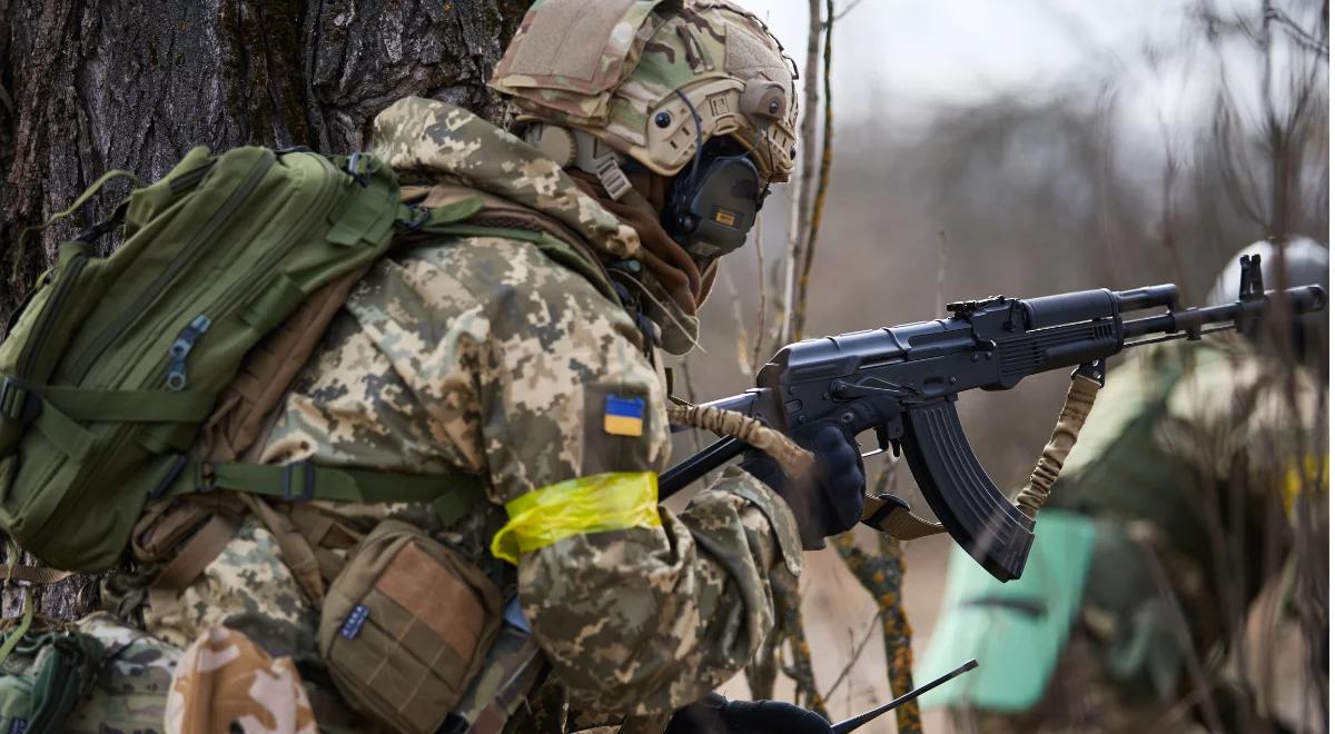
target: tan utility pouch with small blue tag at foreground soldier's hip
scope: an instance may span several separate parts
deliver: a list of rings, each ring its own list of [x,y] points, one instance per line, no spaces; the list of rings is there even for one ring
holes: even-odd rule
[[[320,655],[343,698],[391,731],[430,734],[501,626],[486,575],[422,530],[384,520],[348,554],[320,609]]]

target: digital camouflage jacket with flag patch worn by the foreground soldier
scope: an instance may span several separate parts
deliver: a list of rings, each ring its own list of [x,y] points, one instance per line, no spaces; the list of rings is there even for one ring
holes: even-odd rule
[[[405,180],[481,190],[558,220],[601,258],[635,256],[634,231],[555,163],[463,109],[402,100],[376,119],[371,151]],[[386,515],[407,518],[479,565],[501,566],[571,707],[663,714],[732,677],[769,633],[770,575],[801,569],[796,524],[777,495],[734,472],[680,515],[659,508],[661,527],[565,538],[525,553],[517,569],[485,551],[515,498],[666,467],[657,362],[643,324],[533,243],[427,239],[391,252],[356,286],[259,459],[485,476],[489,502],[451,527],[423,507],[326,508],[363,531]],[[643,399],[638,436],[605,430],[609,396]],[[151,630],[184,643],[210,625],[244,627],[238,615],[306,629],[314,614],[254,522],[182,602],[183,611],[148,614]],[[248,631],[263,643],[272,630]],[[294,633],[268,651],[300,658],[302,639]]]

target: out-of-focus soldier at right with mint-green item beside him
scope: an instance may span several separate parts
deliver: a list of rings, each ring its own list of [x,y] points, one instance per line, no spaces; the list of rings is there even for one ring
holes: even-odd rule
[[[1324,247],[1279,250],[1239,256],[1262,255],[1267,288],[1328,282]],[[1238,263],[1210,303],[1236,298]],[[1246,336],[1164,344],[1113,370],[1024,578],[1003,586],[952,563],[929,658],[981,666],[930,705],[952,706],[960,731],[1276,726],[1223,661],[1263,586],[1292,573],[1295,539],[1324,547],[1304,519],[1326,516],[1323,316],[1271,314]]]

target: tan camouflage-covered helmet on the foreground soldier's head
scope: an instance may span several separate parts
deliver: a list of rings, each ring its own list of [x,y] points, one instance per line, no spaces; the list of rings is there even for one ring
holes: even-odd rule
[[[491,87],[521,121],[583,129],[655,173],[686,167],[697,139],[728,135],[762,177],[785,181],[796,76],[765,24],[724,0],[539,0]]]

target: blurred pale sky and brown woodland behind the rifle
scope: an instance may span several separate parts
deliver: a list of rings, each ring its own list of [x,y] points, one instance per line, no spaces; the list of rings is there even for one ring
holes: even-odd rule
[[[802,67],[805,4],[746,5]],[[1262,19],[1276,9],[1296,28],[1276,24],[1267,45]],[[1250,242],[1327,243],[1328,51],[1324,33],[1300,31],[1324,27],[1320,1],[834,3],[833,157],[804,335],[933,319],[993,294],[1175,282],[1200,303]],[[724,262],[704,350],[678,366],[697,400],[749,387],[780,342],[792,196],[776,190],[753,247]],[[1067,382],[961,398],[999,486],[1017,490],[1033,468]],[[678,440],[680,455],[693,448]],[[929,514],[906,466],[894,486]],[[920,659],[949,546],[905,546]],[[832,715],[888,701],[881,645],[860,645],[877,607],[832,548],[808,554],[801,594],[817,687],[838,682]],[[738,677],[728,691],[748,687]],[[890,717],[876,726],[894,730]],[[933,711],[924,729],[951,730]]]

